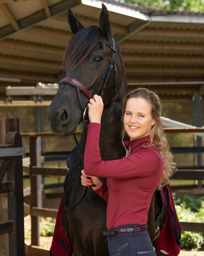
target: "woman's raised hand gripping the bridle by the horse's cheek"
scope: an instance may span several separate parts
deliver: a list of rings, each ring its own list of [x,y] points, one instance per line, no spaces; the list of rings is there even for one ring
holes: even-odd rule
[[[95,94],[93,99],[89,100],[88,103],[88,117],[90,123],[100,123],[101,116],[104,109],[104,103],[101,96]]]

